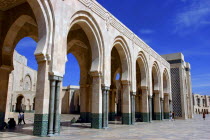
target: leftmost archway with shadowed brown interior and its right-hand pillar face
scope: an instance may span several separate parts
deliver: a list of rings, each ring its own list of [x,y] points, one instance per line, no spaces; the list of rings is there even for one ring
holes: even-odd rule
[[[0,46],[2,46],[1,49],[1,57],[0,57],[0,88],[2,89],[0,91],[0,95],[3,95],[4,98],[1,98],[0,101],[0,129],[1,129],[1,122],[4,120],[4,114],[5,114],[5,102],[7,98],[7,88],[8,88],[8,76],[11,70],[13,69],[13,51],[16,46],[16,44],[24,37],[31,37],[35,41],[38,42],[35,55],[38,60],[38,63],[41,63],[39,65],[38,70],[38,80],[37,80],[37,101],[39,103],[38,108],[36,109],[35,114],[35,125],[34,125],[34,135],[47,135],[47,126],[42,123],[44,120],[42,120],[42,116],[47,116],[48,114],[48,101],[46,100],[49,98],[47,94],[48,91],[46,91],[45,88],[48,81],[48,74],[46,71],[48,71],[48,68],[46,68],[46,65],[49,65],[48,63],[44,63],[47,61],[46,54],[47,48],[49,48],[49,34],[50,32],[50,26],[52,25],[50,23],[50,9],[45,8],[45,6],[49,6],[51,2],[50,1],[26,1],[24,3],[20,3],[19,5],[13,7],[10,7],[8,10],[5,10],[2,12],[2,14],[10,15],[10,20],[4,20],[6,22],[3,22],[2,24],[2,38],[0,39]],[[24,9],[24,10],[23,10]],[[1,9],[0,9],[1,10]],[[48,13],[48,14],[46,14]],[[48,17],[47,17],[47,16]],[[3,16],[4,17],[4,16]],[[5,18],[8,18],[5,16]],[[52,21],[52,20],[51,20]],[[49,54],[48,54],[49,56]],[[41,59],[40,59],[41,58]],[[46,77],[46,79],[43,81],[43,78]],[[3,114],[3,115],[2,115]],[[40,120],[41,119],[41,120]],[[36,123],[39,122],[39,123]],[[41,123],[40,123],[41,122]],[[45,121],[46,122],[46,121]],[[43,128],[43,129],[40,129]]]

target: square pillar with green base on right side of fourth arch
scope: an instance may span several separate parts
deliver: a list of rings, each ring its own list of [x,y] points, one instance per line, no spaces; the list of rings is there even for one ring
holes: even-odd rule
[[[142,101],[141,101],[141,116],[143,122],[149,122],[150,120],[150,103],[151,100],[148,99],[148,89],[142,89]]]

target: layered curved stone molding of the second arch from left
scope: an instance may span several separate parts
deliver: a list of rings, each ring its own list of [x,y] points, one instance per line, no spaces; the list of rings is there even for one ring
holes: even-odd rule
[[[66,36],[68,36],[70,29],[75,24],[80,25],[81,28],[84,30],[91,46],[92,63],[90,71],[94,73],[102,73],[104,59],[104,42],[98,23],[96,22],[94,17],[87,11],[78,11],[71,17]]]

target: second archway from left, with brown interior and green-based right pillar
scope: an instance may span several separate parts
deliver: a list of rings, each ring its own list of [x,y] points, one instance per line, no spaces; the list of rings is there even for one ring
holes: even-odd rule
[[[69,27],[66,52],[80,66],[80,117],[82,122],[91,122],[92,128],[102,128],[102,36],[97,22],[85,11],[75,13]]]

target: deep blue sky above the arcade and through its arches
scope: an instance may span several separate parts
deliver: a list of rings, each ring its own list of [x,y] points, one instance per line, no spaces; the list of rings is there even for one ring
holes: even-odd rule
[[[210,0],[97,1],[159,54],[182,52],[192,67],[193,92],[210,95]],[[25,38],[17,46],[34,69],[24,48],[35,50],[35,44]],[[78,63],[73,55],[68,60],[64,86],[78,85]]]

